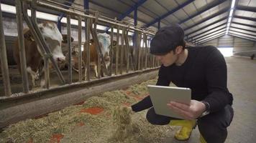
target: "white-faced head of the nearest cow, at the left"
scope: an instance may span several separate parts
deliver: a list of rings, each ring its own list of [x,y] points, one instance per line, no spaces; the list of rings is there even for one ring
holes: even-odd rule
[[[52,52],[53,59],[58,64],[63,64],[63,62],[65,62],[65,56],[61,50],[63,36],[60,34],[57,25],[53,22],[47,21],[45,23],[38,24],[38,26],[46,44],[49,46],[50,51]]]

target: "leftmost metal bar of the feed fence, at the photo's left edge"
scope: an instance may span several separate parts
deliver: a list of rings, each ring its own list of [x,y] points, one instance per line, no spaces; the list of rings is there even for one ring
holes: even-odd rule
[[[11,96],[11,84],[9,80],[9,71],[8,71],[8,61],[6,56],[6,45],[5,45],[5,38],[4,38],[4,24],[2,20],[2,13],[1,13],[1,0],[0,0],[0,66],[1,72],[3,73],[3,80],[4,80],[4,93],[6,97]],[[1,95],[0,95],[1,96]]]

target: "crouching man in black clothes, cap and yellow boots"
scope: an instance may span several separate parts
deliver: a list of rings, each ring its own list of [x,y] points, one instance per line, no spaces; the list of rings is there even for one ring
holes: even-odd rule
[[[149,96],[132,105],[132,111],[150,108],[147,120],[151,124],[182,126],[175,139],[189,139],[197,120],[201,142],[224,142],[234,114],[233,97],[227,89],[226,62],[216,47],[186,47],[183,38],[184,31],[178,24],[165,26],[152,39],[150,53],[162,63],[157,85],[169,86],[173,82],[191,89],[191,104],[168,102],[166,105],[186,120],[155,114]]]

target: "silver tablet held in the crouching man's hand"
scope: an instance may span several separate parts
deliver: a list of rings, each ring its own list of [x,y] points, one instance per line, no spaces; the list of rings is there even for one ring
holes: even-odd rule
[[[183,119],[167,106],[170,101],[190,104],[191,89],[183,87],[165,87],[156,85],[147,85],[150,92],[150,99],[156,114]]]

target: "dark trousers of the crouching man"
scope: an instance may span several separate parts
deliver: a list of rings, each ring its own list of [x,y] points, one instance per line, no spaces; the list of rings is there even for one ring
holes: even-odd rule
[[[227,127],[232,122],[233,115],[233,108],[227,105],[221,111],[208,114],[197,120],[199,132],[206,139],[207,143],[225,142],[227,138]],[[172,119],[174,118],[155,114],[153,107],[147,111],[147,121],[151,124],[165,125],[169,124]]]

